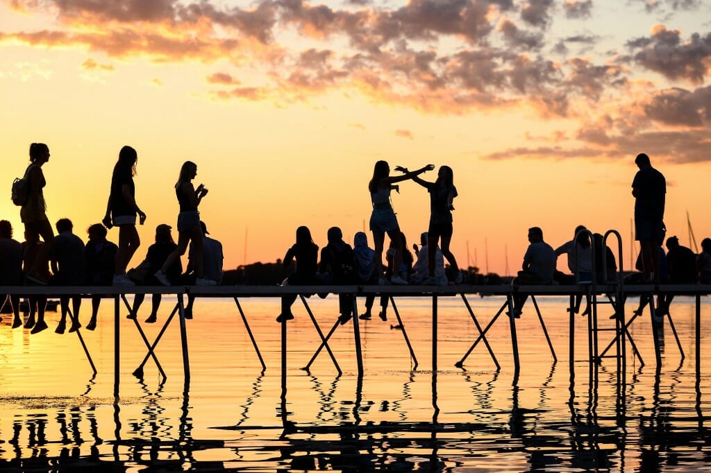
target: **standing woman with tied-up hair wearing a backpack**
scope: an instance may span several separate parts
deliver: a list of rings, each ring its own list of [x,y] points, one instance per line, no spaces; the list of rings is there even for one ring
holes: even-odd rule
[[[25,224],[26,254],[33,254],[39,239],[42,237],[44,244],[37,251],[37,256],[26,268],[25,277],[28,281],[46,284],[47,279],[41,275],[39,268],[46,268],[49,253],[54,243],[52,225],[47,218],[47,205],[42,192],[47,181],[42,172],[42,165],[49,161],[49,147],[45,143],[32,143],[30,145],[30,165],[25,171],[28,183],[27,200],[20,209],[20,219]]]

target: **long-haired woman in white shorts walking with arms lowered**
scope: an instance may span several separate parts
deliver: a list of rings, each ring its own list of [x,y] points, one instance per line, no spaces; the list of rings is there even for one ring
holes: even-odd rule
[[[141,246],[141,239],[136,229],[136,216],[142,225],[146,214],[136,203],[136,163],[138,153],[131,146],[124,146],[119,151],[119,160],[114,165],[111,175],[111,192],[106,205],[106,215],[102,222],[107,228],[119,227],[119,249],[114,264],[114,286],[134,286],[126,276],[126,268]]]

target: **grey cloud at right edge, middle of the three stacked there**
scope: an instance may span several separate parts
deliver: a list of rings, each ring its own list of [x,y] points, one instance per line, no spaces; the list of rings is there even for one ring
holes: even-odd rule
[[[711,128],[711,86],[668,89],[655,94],[644,111],[653,120],[668,125]]]

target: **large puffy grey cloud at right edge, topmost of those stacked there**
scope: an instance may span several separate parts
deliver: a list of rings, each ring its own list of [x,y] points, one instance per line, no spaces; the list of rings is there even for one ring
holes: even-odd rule
[[[700,84],[711,64],[711,33],[694,33],[682,42],[678,30],[656,26],[650,38],[635,38],[627,43],[632,59],[670,80],[686,79]]]

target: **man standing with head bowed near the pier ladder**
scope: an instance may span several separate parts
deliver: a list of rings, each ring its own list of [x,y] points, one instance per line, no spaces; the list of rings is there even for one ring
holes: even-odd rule
[[[649,156],[637,155],[634,163],[639,170],[632,181],[634,201],[635,239],[642,251],[643,282],[660,282],[659,253],[654,247],[664,239],[664,202],[666,180],[662,173],[652,167]]]

